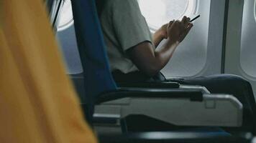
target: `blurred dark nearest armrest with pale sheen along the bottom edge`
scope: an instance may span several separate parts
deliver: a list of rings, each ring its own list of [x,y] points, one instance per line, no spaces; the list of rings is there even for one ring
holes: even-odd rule
[[[226,132],[140,132],[130,134],[99,134],[101,143],[251,143],[252,138],[232,136]]]

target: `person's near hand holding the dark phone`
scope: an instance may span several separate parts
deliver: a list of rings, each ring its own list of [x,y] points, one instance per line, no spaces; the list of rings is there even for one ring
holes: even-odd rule
[[[188,32],[193,27],[190,22],[190,18],[184,16],[181,21],[174,21],[168,24],[167,35],[170,41],[181,42],[187,36]]]

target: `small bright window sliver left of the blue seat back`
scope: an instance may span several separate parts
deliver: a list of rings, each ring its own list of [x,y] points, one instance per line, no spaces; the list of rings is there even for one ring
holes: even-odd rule
[[[72,6],[70,0],[65,0],[58,21],[58,31],[68,29],[73,24]]]

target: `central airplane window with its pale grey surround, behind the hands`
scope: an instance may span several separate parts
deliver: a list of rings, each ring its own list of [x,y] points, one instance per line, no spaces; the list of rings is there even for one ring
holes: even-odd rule
[[[183,16],[191,18],[201,14],[200,19],[193,22],[193,29],[176,49],[172,59],[162,73],[171,77],[196,77],[208,68],[209,19],[211,1],[198,0],[137,0],[142,15],[145,16],[150,30],[155,32],[163,24]],[[218,9],[218,8],[216,8]],[[162,42],[160,46],[164,44]]]

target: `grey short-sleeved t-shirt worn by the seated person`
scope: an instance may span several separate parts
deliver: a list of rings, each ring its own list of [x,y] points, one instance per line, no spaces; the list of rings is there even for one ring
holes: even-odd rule
[[[111,71],[138,71],[126,50],[143,41],[151,42],[152,35],[137,0],[106,0],[100,21]]]

